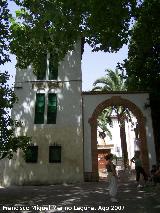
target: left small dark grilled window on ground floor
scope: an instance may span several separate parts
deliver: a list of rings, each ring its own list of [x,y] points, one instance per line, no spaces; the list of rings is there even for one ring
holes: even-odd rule
[[[37,163],[38,161],[38,146],[28,146],[25,152],[26,163]]]

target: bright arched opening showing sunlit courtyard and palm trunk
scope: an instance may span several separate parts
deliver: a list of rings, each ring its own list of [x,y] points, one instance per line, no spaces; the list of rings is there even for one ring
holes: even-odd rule
[[[113,154],[117,172],[128,174],[134,170],[131,159],[139,152],[138,122],[133,113],[124,106],[105,108],[97,119],[97,151],[99,179],[107,177],[105,155]],[[124,171],[126,171],[124,173]],[[134,173],[134,171],[133,171]]]

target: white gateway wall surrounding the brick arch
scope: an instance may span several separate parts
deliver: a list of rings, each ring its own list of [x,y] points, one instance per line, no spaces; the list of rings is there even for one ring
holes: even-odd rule
[[[113,96],[120,96],[134,103],[143,113],[146,118],[146,137],[149,155],[150,167],[156,162],[151,111],[150,108],[145,108],[144,104],[148,103],[149,95],[147,93],[126,93],[126,94],[87,94],[83,93],[83,122],[84,122],[84,171],[92,172],[92,159],[91,159],[91,126],[88,120],[92,117],[92,114],[96,107],[110,99]]]

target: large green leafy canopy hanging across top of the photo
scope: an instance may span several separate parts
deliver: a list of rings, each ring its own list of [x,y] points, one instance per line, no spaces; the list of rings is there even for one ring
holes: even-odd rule
[[[128,41],[136,0],[14,0],[20,6],[12,19],[11,51],[20,68],[39,61],[46,53],[57,60],[84,38],[93,51],[117,51]]]

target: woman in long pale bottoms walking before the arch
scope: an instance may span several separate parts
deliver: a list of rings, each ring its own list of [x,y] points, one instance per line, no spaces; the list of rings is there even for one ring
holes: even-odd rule
[[[113,164],[113,154],[109,153],[105,156],[106,159],[106,169],[108,172],[108,181],[109,181],[109,195],[112,202],[118,202],[115,198],[117,195],[118,189],[118,177],[116,172],[116,166]]]

